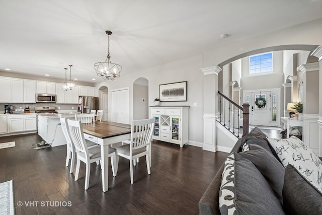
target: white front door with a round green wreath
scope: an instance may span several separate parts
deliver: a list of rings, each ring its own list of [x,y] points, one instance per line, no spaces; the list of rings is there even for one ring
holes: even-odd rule
[[[264,98],[265,106],[257,106],[256,99]],[[252,92],[251,94],[251,125],[270,126],[270,91]],[[263,100],[262,100],[263,101]]]

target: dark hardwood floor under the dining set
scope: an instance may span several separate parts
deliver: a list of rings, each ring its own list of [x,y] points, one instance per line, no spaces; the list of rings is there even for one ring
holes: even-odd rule
[[[84,190],[84,163],[74,181],[65,167],[66,146],[34,150],[40,140],[38,134],[0,137],[0,143],[16,141],[0,149],[0,182],[14,180],[16,214],[198,214],[200,197],[228,155],[154,140],[151,175],[141,158],[131,185],[129,161],[120,158],[116,177],[109,167],[104,193],[100,166],[91,165]]]

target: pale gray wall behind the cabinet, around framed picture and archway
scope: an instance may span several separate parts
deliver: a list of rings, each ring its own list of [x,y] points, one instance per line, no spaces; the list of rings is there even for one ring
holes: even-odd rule
[[[107,86],[109,91],[129,87],[130,120],[133,118],[133,83],[137,78],[148,80],[148,101],[154,105],[154,98],[159,97],[159,85],[187,81],[186,102],[162,102],[161,105],[189,105],[189,140],[203,142],[203,73],[202,55],[154,66],[142,71],[121,74],[114,81],[102,81],[96,85]],[[197,103],[197,107],[194,107]],[[111,102],[110,102],[111,104]]]

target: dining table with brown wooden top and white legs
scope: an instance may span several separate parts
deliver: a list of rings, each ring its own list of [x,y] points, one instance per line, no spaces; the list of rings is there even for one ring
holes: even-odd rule
[[[85,139],[101,146],[102,185],[103,192],[106,192],[109,189],[109,145],[130,139],[131,125],[111,121],[96,121],[82,125]]]

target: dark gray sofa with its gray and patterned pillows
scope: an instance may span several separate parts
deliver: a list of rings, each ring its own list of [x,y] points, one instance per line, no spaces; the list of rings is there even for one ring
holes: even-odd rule
[[[311,162],[301,153],[292,154],[291,150],[299,147],[293,143],[285,147],[287,139],[274,139],[277,144],[282,142],[282,147],[269,140],[273,141],[257,127],[238,139],[201,197],[199,214],[322,214],[322,192],[316,188],[322,183],[322,159],[311,159],[317,168],[314,172],[320,174],[320,185],[313,186],[312,180],[294,167],[300,165],[292,163]],[[281,159],[281,154],[291,160]]]

